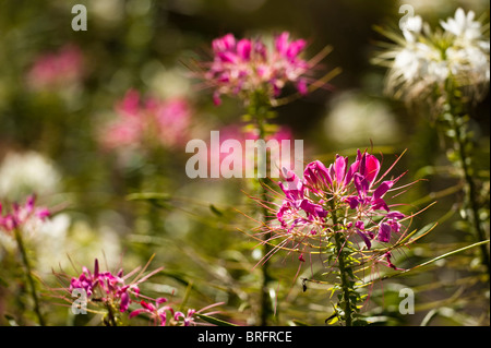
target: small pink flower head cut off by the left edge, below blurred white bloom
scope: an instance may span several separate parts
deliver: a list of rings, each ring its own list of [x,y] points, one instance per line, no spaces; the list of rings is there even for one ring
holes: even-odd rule
[[[50,212],[45,207],[36,207],[35,201],[36,197],[31,195],[24,205],[14,203],[11,213],[5,215],[3,215],[3,207],[0,203],[0,230],[11,232],[16,228],[43,223]]]

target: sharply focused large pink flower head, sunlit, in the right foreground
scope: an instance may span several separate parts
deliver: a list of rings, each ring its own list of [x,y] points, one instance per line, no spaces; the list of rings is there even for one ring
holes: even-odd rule
[[[276,214],[282,228],[310,236],[326,229],[356,233],[369,250],[373,240],[388,242],[406,216],[392,211],[385,197],[400,177],[382,181],[383,177],[378,179],[380,167],[375,156],[358,151],[350,166],[348,157],[339,155],[328,167],[320,160],[310,163],[303,180],[284,169],[286,184],[279,182],[279,187],[285,199]],[[344,214],[343,226],[332,226],[328,219],[338,212]]]

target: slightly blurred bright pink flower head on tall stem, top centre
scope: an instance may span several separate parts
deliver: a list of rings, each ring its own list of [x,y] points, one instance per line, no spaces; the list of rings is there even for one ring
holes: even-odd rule
[[[204,80],[215,88],[214,103],[219,105],[221,95],[256,91],[264,91],[271,98],[278,97],[287,83],[307,94],[306,73],[312,67],[299,57],[307,43],[290,40],[289,36],[287,32],[276,36],[272,49],[259,38],[237,40],[232,34],[213,40],[214,60],[206,67]]]

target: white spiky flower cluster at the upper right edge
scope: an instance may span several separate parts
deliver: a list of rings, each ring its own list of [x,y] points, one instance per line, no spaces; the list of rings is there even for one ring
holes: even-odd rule
[[[420,16],[407,20],[404,38],[395,49],[380,56],[388,60],[386,88],[397,98],[412,100],[433,88],[443,88],[448,79],[474,98],[483,96],[490,82],[490,41],[475,13],[463,9],[455,17],[440,21],[431,31]]]

